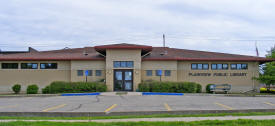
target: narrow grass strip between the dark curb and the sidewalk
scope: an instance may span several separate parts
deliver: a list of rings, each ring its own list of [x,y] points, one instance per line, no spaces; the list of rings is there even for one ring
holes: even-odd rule
[[[256,116],[256,115],[275,115],[275,112],[250,112],[250,113],[216,113],[216,114],[192,114],[192,115],[125,115],[125,116],[96,116],[96,117],[6,117],[0,119],[17,120],[95,120],[95,119],[128,119],[128,118],[167,118],[167,117],[211,117],[211,116]]]

